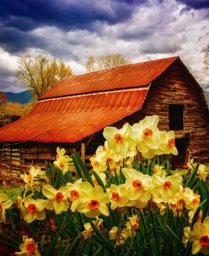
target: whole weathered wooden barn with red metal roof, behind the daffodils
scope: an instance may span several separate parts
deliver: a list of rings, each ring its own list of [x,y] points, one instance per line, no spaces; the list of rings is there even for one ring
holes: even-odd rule
[[[179,57],[129,64],[75,75],[42,95],[30,114],[0,128],[2,180],[18,177],[30,164],[45,169],[56,147],[73,148],[89,159],[103,142],[102,129],[160,116],[158,127],[173,130],[184,167],[192,156],[209,163],[209,114],[201,86]]]

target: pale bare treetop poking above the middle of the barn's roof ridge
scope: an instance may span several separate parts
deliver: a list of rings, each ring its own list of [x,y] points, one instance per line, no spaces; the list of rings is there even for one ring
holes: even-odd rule
[[[128,60],[120,53],[109,53],[100,56],[89,56],[85,69],[87,72],[96,70],[107,70],[129,64]]]

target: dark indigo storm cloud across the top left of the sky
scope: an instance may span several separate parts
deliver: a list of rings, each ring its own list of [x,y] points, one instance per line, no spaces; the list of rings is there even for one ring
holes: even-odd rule
[[[66,30],[87,28],[95,20],[114,24],[128,19],[141,1],[87,0],[1,0],[1,22],[5,26],[30,31],[39,26],[54,25]],[[25,22],[26,21],[26,22]]]

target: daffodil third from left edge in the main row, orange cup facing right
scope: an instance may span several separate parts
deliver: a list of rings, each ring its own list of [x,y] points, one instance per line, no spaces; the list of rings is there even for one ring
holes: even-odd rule
[[[69,209],[69,189],[66,186],[61,186],[58,190],[51,185],[42,187],[42,193],[47,198],[45,208],[54,210],[55,214],[61,214]]]

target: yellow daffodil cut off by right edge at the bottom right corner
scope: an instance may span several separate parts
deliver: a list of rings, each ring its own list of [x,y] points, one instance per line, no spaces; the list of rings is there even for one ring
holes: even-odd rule
[[[193,230],[190,231],[190,242],[192,243],[191,253],[209,253],[209,217],[201,222],[196,222]]]

